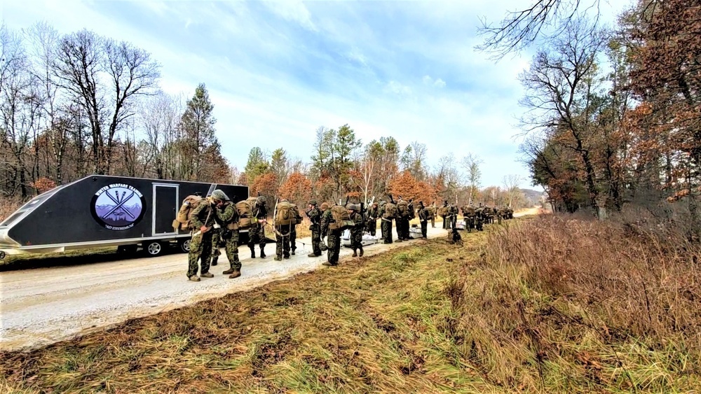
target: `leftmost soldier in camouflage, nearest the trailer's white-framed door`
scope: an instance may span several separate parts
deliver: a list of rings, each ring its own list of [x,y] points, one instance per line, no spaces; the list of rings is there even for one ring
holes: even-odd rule
[[[200,281],[197,276],[197,262],[200,260],[200,276],[212,278],[210,274],[210,254],[212,253],[212,227],[215,225],[214,198],[203,199],[190,213],[190,227],[193,235],[190,240],[188,253],[187,277],[193,281]]]

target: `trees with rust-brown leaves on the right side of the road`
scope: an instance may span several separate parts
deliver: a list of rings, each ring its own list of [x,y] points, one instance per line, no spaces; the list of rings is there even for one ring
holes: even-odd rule
[[[700,223],[701,1],[637,1],[608,28],[567,15],[519,76],[534,183],[559,211],[603,218],[667,199]],[[505,26],[539,22],[529,18]],[[495,48],[533,38],[527,29],[491,33]]]

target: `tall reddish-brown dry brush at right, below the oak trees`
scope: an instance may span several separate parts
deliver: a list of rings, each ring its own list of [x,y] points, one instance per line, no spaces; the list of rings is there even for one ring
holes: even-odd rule
[[[462,353],[514,389],[699,388],[700,255],[663,225],[547,215],[498,227],[449,287]]]

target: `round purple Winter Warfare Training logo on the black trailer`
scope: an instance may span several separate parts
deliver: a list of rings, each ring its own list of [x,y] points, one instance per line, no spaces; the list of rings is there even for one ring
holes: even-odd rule
[[[144,195],[131,185],[112,183],[97,190],[90,204],[93,218],[108,230],[128,230],[144,217]]]

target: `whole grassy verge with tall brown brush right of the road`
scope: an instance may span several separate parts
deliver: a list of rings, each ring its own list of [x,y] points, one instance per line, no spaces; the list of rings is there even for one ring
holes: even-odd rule
[[[649,228],[510,220],[0,353],[0,376],[17,393],[690,392],[701,248]]]

